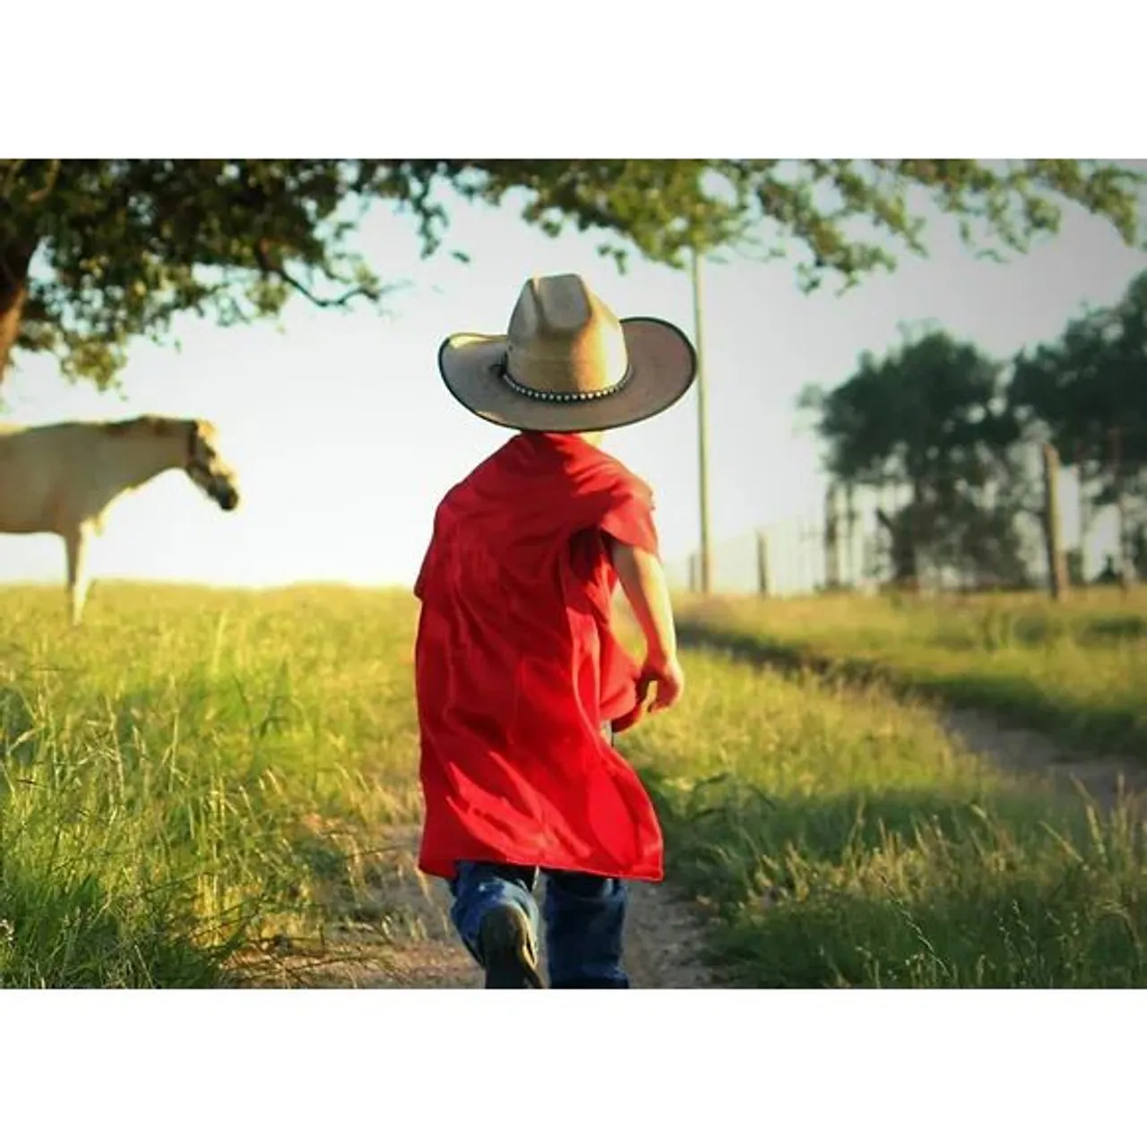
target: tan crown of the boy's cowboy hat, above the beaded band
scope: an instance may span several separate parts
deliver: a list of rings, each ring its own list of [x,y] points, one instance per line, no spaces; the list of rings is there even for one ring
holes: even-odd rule
[[[608,392],[629,373],[622,323],[580,275],[528,280],[507,334],[509,381],[540,395]]]

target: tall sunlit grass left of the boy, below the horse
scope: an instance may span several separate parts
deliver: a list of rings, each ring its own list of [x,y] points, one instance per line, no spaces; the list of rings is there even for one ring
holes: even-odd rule
[[[225,982],[415,814],[406,595],[0,592],[0,984]]]

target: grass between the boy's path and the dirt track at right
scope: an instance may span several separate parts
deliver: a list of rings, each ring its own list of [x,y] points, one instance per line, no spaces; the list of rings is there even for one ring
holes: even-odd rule
[[[1147,985],[1134,810],[1023,789],[881,685],[686,657],[629,750],[744,986]]]

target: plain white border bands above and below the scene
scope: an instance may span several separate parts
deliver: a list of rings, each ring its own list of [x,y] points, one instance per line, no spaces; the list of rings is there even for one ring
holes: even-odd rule
[[[1110,157],[1142,138],[1122,5],[9,8],[8,155]],[[1105,1142],[1137,1115],[1145,999],[8,992],[3,1138]]]

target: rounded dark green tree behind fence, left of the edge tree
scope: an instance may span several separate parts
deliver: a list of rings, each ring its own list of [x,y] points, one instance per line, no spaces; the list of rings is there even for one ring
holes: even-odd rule
[[[877,512],[894,579],[916,584],[921,563],[978,580],[1025,579],[1017,517],[1038,508],[1021,427],[999,364],[970,343],[930,330],[827,390],[807,387],[838,482],[899,487],[908,500]]]

